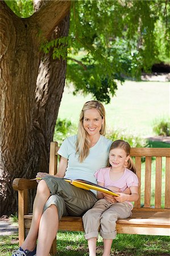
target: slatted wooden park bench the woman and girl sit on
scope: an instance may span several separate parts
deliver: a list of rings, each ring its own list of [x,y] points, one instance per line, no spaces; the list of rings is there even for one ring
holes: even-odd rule
[[[51,142],[51,175],[57,172],[58,149],[57,142]],[[117,221],[117,233],[170,236],[170,148],[131,148],[131,156],[135,158],[136,174],[141,180],[139,200],[134,204],[131,218]],[[155,166],[152,164],[153,157],[156,157]],[[162,171],[162,162],[165,172]],[[151,205],[152,179],[155,180],[156,193],[154,192],[154,202]],[[35,188],[36,185],[36,180],[16,178],[13,181],[13,188],[18,191],[19,245],[23,243],[32,219],[32,215],[28,214],[28,189]],[[84,231],[81,217],[61,218],[59,230]],[[53,241],[51,253],[56,253],[56,240]]]

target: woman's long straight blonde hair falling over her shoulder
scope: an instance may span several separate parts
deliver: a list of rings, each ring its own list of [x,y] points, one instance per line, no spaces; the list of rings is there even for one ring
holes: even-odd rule
[[[104,118],[104,122],[102,124],[101,130],[99,133],[101,135],[105,135],[105,108],[99,101],[88,101],[84,104],[81,113],[80,119],[78,123],[78,132],[77,132],[77,142],[76,142],[76,153],[79,155],[78,159],[80,163],[89,155],[90,149],[90,140],[88,138],[88,133],[84,129],[83,126],[83,119],[84,119],[84,112],[88,109],[97,109],[99,114],[101,115],[102,119]]]

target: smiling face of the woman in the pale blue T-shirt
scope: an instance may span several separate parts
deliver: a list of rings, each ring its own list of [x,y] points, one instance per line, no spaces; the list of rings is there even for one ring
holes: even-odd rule
[[[97,109],[87,109],[84,112],[83,126],[90,136],[99,134],[104,117],[102,118]]]

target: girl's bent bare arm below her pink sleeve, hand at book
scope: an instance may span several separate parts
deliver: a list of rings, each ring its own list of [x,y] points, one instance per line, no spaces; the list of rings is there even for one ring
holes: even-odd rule
[[[125,193],[119,193],[119,196],[115,196],[115,200],[119,203],[123,203],[125,201],[137,201],[139,198],[138,187],[132,186],[130,187],[131,194],[127,195]]]

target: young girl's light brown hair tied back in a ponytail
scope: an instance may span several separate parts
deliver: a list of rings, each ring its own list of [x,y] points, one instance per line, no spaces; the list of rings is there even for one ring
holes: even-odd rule
[[[125,150],[127,156],[129,155],[130,156],[130,144],[128,144],[128,142],[126,141],[122,141],[122,139],[118,139],[117,141],[114,141],[110,148],[109,148],[109,152],[111,150],[113,150],[114,148],[121,148],[123,150]],[[110,167],[110,163],[109,163],[109,158],[107,160],[107,167]],[[127,169],[131,170],[132,172],[134,172],[136,174],[136,167],[135,167],[135,164],[132,160],[132,158],[130,157],[128,159],[128,162],[127,162],[127,166],[126,166]]]

